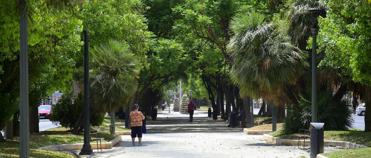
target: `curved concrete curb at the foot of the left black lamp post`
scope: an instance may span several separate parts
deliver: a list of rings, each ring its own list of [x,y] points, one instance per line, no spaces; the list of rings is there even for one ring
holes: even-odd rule
[[[121,136],[117,136],[113,140],[109,142],[102,142],[102,149],[111,149],[115,144],[121,141]],[[50,150],[50,151],[63,151],[63,150],[81,150],[83,143],[76,143],[76,144],[58,144],[58,145],[49,145],[37,149],[41,150]],[[95,143],[90,143],[92,149],[97,149],[101,147],[101,144],[98,142],[98,146]]]

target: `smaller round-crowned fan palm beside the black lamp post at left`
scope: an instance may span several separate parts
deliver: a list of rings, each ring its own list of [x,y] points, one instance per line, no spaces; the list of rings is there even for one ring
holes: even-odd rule
[[[109,40],[91,51],[89,70],[90,103],[93,109],[111,111],[111,124],[115,134],[115,111],[127,106],[137,91],[139,62],[126,42]],[[78,76],[83,85],[83,75]],[[125,107],[124,107],[125,109]]]

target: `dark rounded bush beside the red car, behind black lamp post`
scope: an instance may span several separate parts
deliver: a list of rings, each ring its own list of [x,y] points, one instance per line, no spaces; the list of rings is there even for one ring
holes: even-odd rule
[[[71,93],[64,93],[58,103],[52,106],[52,116],[50,120],[54,124],[73,129],[80,114],[83,112],[84,96],[79,93],[76,98]],[[103,123],[102,113],[92,113],[90,116],[91,126],[100,126]]]

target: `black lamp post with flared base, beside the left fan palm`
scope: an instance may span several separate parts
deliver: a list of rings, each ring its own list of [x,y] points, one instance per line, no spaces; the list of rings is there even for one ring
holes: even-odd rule
[[[84,144],[79,155],[91,155],[90,120],[89,120],[89,30],[84,30]]]

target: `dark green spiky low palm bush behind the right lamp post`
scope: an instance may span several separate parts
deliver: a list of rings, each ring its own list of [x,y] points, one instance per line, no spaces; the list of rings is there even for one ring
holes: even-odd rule
[[[317,107],[318,120],[325,123],[324,130],[347,130],[351,127],[353,119],[351,102],[347,97],[341,100],[334,100],[332,90],[318,92]],[[309,123],[312,118],[311,89],[308,89],[306,96],[299,99],[299,108],[288,107],[285,123],[283,124],[283,133],[297,133],[299,129],[309,129]]]

